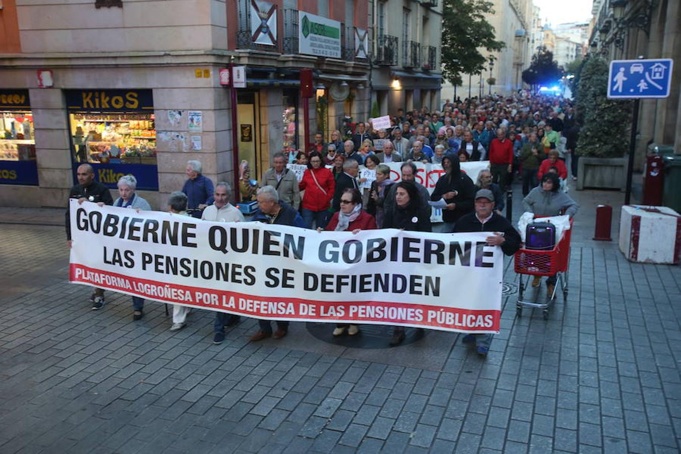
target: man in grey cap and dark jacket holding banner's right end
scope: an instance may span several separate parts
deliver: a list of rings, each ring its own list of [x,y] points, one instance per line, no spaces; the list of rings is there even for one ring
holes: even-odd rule
[[[455,232],[490,231],[486,238],[488,246],[501,246],[506,255],[513,255],[520,248],[520,234],[503,216],[494,212],[494,194],[489,189],[480,189],[475,193],[475,212],[464,214],[454,225]],[[477,354],[487,356],[492,343],[492,334],[468,334],[464,336],[464,344],[477,346]]]

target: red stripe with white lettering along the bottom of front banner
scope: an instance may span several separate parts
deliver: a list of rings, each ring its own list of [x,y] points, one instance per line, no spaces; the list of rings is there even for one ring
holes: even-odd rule
[[[501,317],[501,310],[470,310],[394,302],[328,302],[302,298],[258,297],[234,291],[165,284],[97,270],[78,263],[71,263],[69,281],[160,302],[270,320],[377,323],[446,331],[498,332]],[[234,307],[227,305],[232,297]]]

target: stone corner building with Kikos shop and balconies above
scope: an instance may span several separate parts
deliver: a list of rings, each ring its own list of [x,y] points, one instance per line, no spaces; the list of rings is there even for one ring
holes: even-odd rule
[[[65,206],[91,163],[165,209],[189,159],[214,182],[242,161],[259,178],[274,152],[368,116],[366,0],[37,3],[0,10],[0,205]]]

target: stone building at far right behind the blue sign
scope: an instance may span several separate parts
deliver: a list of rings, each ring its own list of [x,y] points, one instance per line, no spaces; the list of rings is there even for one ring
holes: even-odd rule
[[[681,4],[673,0],[629,0],[621,16],[612,0],[594,3],[590,52],[606,59],[674,59],[681,61]],[[622,2],[620,2],[622,3]],[[616,15],[617,13],[617,15]],[[674,65],[671,92],[664,99],[640,101],[635,169],[643,167],[650,146],[673,146],[681,155],[681,65]]]

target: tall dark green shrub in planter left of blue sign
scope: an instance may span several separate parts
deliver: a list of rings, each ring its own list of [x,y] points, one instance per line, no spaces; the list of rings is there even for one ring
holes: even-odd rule
[[[601,56],[584,59],[575,111],[583,126],[577,140],[580,156],[620,158],[629,149],[631,101],[608,99],[608,63]]]

